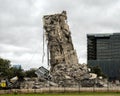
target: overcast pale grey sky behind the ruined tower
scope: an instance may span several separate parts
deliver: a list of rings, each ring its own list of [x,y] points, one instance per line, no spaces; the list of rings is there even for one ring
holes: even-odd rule
[[[47,68],[42,17],[63,10],[80,63],[87,61],[86,34],[120,32],[120,0],[0,0],[0,57],[25,70]]]

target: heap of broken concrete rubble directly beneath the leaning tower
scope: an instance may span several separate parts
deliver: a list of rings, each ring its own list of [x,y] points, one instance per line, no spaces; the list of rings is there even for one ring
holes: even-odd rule
[[[90,77],[87,66],[80,64],[58,64],[52,72],[52,81],[60,86],[76,86]]]

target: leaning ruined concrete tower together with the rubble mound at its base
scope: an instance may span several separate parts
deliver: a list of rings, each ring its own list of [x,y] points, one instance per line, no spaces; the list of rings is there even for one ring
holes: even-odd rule
[[[73,86],[78,83],[82,86],[93,86],[97,76],[89,73],[87,65],[78,63],[67,24],[66,11],[60,14],[45,15],[43,24],[50,63],[50,81],[58,86]]]

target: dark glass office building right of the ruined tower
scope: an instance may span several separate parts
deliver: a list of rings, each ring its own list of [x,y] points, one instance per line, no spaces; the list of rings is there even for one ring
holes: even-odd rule
[[[88,34],[87,63],[100,66],[109,79],[120,80],[120,33]]]

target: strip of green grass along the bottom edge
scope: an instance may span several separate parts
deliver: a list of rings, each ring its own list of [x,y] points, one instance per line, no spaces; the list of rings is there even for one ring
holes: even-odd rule
[[[44,94],[3,94],[0,96],[120,96],[120,93],[81,92],[81,93],[44,93]]]

